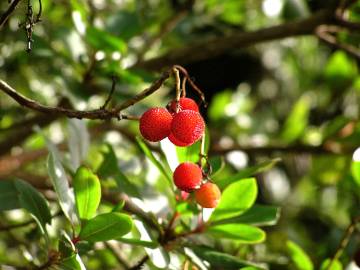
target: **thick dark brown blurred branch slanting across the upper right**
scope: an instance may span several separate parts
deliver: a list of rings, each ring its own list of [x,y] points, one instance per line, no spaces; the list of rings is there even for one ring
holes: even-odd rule
[[[310,35],[322,24],[333,23],[334,10],[326,9],[314,13],[311,17],[281,25],[263,28],[253,32],[234,33],[226,37],[217,37],[187,45],[160,57],[139,62],[136,68],[159,70],[163,67],[179,63],[185,65],[203,60],[209,56],[218,56],[230,49],[245,48],[260,42],[286,37]]]

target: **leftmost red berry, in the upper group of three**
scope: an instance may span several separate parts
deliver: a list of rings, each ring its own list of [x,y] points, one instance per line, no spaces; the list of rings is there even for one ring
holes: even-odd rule
[[[140,117],[140,133],[148,141],[158,142],[170,134],[172,115],[164,108],[151,108]]]

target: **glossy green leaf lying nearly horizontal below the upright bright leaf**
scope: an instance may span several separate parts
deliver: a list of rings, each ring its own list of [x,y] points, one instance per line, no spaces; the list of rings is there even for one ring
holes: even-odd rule
[[[120,213],[101,214],[88,220],[80,231],[80,239],[89,242],[117,239],[131,231],[130,216]]]

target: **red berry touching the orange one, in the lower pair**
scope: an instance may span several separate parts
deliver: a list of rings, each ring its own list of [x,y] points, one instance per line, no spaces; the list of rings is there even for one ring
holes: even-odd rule
[[[201,168],[191,162],[181,163],[173,174],[175,185],[182,191],[190,192],[201,185]]]

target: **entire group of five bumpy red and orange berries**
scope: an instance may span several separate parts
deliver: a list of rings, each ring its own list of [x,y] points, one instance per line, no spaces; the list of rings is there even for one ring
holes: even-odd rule
[[[166,137],[176,146],[186,147],[197,142],[204,134],[205,122],[199,113],[199,107],[190,98],[180,98],[177,103],[171,101],[167,109],[151,108],[140,118],[140,133],[151,142]],[[215,208],[221,192],[217,185],[203,183],[203,171],[197,164],[181,163],[174,171],[175,185],[184,192],[195,193],[196,202],[204,208]]]

